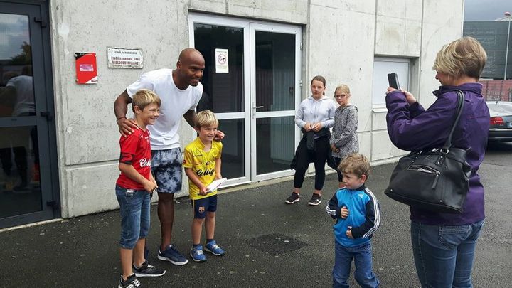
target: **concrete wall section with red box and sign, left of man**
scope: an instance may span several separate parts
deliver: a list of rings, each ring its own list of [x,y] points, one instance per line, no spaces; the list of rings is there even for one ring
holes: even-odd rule
[[[188,46],[181,1],[50,1],[63,217],[117,207],[114,100]],[[179,23],[179,25],[178,25]],[[182,31],[182,33],[180,33]],[[107,47],[142,48],[144,69],[107,68]],[[75,52],[97,53],[97,85],[75,84]]]

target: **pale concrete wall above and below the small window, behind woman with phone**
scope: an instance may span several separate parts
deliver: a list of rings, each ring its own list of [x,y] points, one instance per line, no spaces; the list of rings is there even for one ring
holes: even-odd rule
[[[463,5],[463,0],[377,1],[375,55],[411,59],[410,92],[425,108],[434,102],[432,91],[440,85],[432,70],[437,52],[462,36]],[[405,154],[390,142],[385,112],[374,112],[372,120],[373,163],[395,161]]]

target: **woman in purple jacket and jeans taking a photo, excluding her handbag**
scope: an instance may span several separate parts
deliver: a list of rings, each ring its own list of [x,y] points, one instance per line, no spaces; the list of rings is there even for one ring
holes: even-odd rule
[[[489,109],[477,81],[487,55],[471,37],[444,46],[434,62],[437,100],[425,110],[407,91],[388,87],[388,134],[395,146],[417,151],[442,146],[457,110],[457,93],[464,93],[464,110],[452,143],[467,149],[471,165],[469,192],[462,214],[434,213],[410,208],[411,241],[422,287],[472,287],[474,250],[484,225],[484,186],[477,174],[489,132]]]

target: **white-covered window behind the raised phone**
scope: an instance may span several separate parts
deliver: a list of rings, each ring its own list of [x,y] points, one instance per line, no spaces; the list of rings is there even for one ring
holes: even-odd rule
[[[388,73],[397,73],[400,88],[410,90],[410,60],[405,58],[375,58],[373,62],[373,108],[385,107],[385,91],[389,87]]]

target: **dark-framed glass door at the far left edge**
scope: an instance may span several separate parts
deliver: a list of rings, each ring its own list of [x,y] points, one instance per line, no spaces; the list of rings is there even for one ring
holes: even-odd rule
[[[41,10],[0,2],[0,228],[54,218],[58,208]]]

